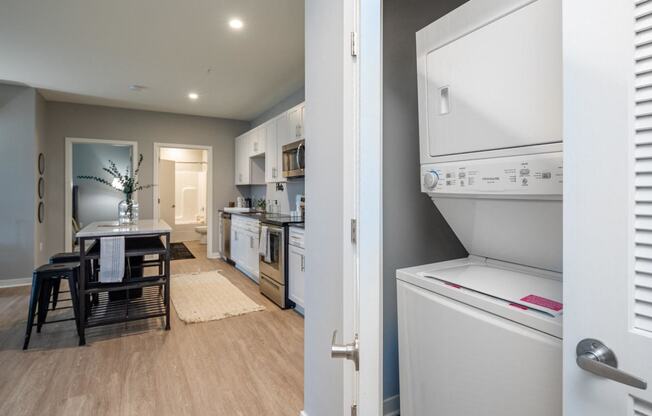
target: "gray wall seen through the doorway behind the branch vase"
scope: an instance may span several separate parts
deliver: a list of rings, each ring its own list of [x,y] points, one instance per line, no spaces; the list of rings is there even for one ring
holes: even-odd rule
[[[79,188],[78,221],[84,227],[93,221],[113,221],[124,194],[99,182],[79,179],[79,175],[97,176],[112,181],[102,168],[113,161],[121,172],[131,164],[131,146],[102,143],[75,143],[72,146],[72,183]],[[137,160],[137,159],[136,159]]]

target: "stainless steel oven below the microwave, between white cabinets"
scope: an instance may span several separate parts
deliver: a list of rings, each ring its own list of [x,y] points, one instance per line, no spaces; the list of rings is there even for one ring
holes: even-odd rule
[[[287,307],[286,296],[286,246],[285,227],[262,224],[269,233],[269,257],[259,255],[260,293],[267,296],[281,308]],[[261,238],[265,238],[261,235]]]

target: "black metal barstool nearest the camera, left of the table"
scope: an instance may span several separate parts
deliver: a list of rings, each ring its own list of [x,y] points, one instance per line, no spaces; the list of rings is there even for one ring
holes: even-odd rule
[[[32,293],[29,298],[29,311],[27,315],[27,329],[25,331],[25,343],[23,344],[24,350],[26,350],[29,346],[29,339],[32,336],[32,328],[34,326],[36,326],[36,332],[41,332],[41,327],[44,324],[74,320],[77,327],[77,333],[79,333],[79,308],[77,306],[79,300],[77,294],[78,274],[79,262],[46,264],[34,270],[34,273],[32,274]],[[61,279],[68,280],[68,286],[70,287],[70,300],[72,301],[74,318],[59,319],[46,322],[48,309],[50,307],[50,293],[52,286],[55,284],[55,282],[60,284]],[[36,324],[34,324],[34,317],[37,318]]]

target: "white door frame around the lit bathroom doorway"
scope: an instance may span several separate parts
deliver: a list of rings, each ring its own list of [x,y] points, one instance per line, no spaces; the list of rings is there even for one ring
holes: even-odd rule
[[[154,157],[153,157],[153,170],[152,170],[152,180],[154,182],[158,181],[158,164],[160,160],[160,153],[162,148],[174,148],[174,149],[198,149],[206,150],[207,152],[207,172],[206,172],[206,257],[209,259],[217,259],[220,257],[219,253],[213,252],[213,146],[201,145],[201,144],[181,144],[181,143],[163,143],[163,142],[154,142]],[[152,188],[152,212],[154,220],[158,221],[160,218],[159,206],[158,206],[158,197],[159,197],[159,188],[154,186]],[[174,224],[169,224],[172,227]]]

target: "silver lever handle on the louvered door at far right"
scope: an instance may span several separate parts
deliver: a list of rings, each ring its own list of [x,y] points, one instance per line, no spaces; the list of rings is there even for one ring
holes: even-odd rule
[[[618,369],[614,352],[602,342],[584,339],[577,344],[577,365],[596,376],[608,378],[637,389],[647,389],[647,382]]]

